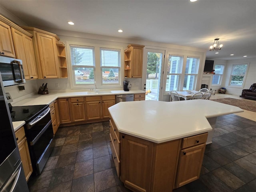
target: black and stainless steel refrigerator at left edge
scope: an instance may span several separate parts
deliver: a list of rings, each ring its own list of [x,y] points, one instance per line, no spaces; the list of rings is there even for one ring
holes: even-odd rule
[[[0,74],[0,192],[28,192]]]

